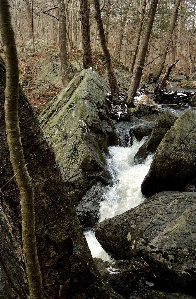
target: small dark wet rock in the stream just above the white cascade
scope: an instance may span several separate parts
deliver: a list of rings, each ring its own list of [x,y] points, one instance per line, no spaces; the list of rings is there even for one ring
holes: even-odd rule
[[[133,124],[133,135],[140,141],[144,136],[151,134],[154,128],[153,120],[146,120],[140,123]]]

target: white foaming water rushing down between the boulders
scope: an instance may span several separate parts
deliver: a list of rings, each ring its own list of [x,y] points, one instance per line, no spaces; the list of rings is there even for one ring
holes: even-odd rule
[[[104,200],[100,203],[99,222],[124,213],[144,201],[140,187],[148,173],[153,156],[148,156],[144,164],[137,165],[134,163],[134,156],[147,138],[144,137],[142,141],[134,139],[132,147],[109,147],[110,158],[107,159],[107,163],[114,184],[112,187],[105,188]],[[92,257],[111,261],[93,231],[87,231],[85,237]]]

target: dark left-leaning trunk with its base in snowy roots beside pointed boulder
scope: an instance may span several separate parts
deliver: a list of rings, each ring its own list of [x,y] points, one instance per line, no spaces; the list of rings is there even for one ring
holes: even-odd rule
[[[114,74],[113,63],[112,63],[112,60],[110,57],[110,52],[109,52],[109,50],[107,48],[107,44],[106,44],[106,39],[105,39],[105,34],[104,34],[104,26],[103,26],[102,19],[101,19],[99,0],[94,0],[94,5],[95,5],[95,19],[96,19],[97,25],[98,25],[99,36],[101,39],[101,47],[103,49],[106,63],[107,63],[107,73],[108,73],[108,79],[109,79],[109,83],[110,83],[112,99],[113,99],[114,103],[118,103],[119,102],[119,89],[118,89],[116,76]]]

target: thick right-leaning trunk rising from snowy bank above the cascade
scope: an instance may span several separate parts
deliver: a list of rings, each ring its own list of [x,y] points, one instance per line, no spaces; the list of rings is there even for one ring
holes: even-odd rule
[[[148,20],[146,22],[146,27],[145,27],[144,34],[143,34],[142,44],[139,49],[137,63],[133,69],[133,77],[131,80],[131,84],[130,84],[127,96],[124,99],[124,100],[127,100],[128,107],[134,107],[133,101],[134,101],[134,97],[135,97],[136,91],[139,86],[140,79],[142,77],[142,71],[144,68],[146,51],[147,51],[148,42],[149,42],[149,39],[151,36],[151,30],[152,30],[152,25],[154,22],[154,16],[155,16],[155,12],[157,9],[157,4],[158,4],[158,0],[151,1],[150,10],[148,13]]]

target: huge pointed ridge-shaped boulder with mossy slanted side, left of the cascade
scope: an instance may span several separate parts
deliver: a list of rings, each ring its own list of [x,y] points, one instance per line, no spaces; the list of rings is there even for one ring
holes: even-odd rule
[[[110,183],[102,154],[108,152],[107,133],[100,120],[110,119],[105,101],[109,91],[97,73],[83,69],[39,116],[75,205],[97,181]]]

